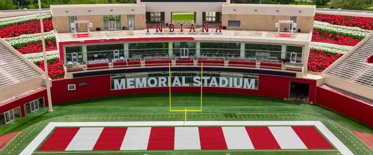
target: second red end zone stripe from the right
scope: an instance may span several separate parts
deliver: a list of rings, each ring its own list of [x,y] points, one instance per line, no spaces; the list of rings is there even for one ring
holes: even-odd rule
[[[245,127],[255,149],[281,149],[266,126]]]

